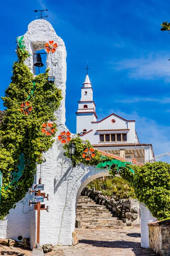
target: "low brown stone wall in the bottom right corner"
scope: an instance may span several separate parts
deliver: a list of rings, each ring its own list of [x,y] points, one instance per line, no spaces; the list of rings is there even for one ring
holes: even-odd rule
[[[149,248],[160,256],[170,256],[170,220],[154,221],[149,226]]]

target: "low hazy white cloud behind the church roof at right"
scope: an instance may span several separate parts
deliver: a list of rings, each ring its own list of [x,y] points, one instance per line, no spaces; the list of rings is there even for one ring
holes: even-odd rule
[[[116,115],[127,120],[136,120],[136,132],[140,143],[152,144],[155,156],[170,152],[170,126],[161,125],[161,123],[157,123],[153,119],[139,116],[135,111],[132,113],[124,113],[119,110],[111,109],[108,115],[111,113],[116,113]],[[99,114],[99,120],[105,116],[103,116],[103,113]],[[158,161],[170,163],[170,157],[161,157]]]

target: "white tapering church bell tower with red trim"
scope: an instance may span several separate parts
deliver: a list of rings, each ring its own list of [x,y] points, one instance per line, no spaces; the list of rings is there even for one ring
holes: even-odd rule
[[[97,121],[96,105],[93,101],[93,89],[88,73],[81,87],[81,99],[78,101],[77,134],[84,134],[91,130],[91,122]]]

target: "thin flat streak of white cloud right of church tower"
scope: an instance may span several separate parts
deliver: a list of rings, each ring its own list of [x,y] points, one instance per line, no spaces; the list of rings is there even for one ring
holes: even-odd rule
[[[121,102],[121,103],[136,103],[136,102],[157,102],[161,104],[168,104],[170,103],[170,97],[164,97],[164,98],[143,98],[143,97],[134,97],[134,98],[128,98],[128,99],[116,99],[115,102]]]

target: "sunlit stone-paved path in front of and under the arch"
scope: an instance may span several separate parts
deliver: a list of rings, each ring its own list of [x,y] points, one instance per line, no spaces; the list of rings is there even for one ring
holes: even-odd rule
[[[77,229],[79,244],[59,246],[65,256],[156,256],[140,247],[140,229]]]

